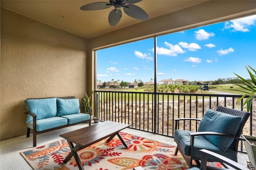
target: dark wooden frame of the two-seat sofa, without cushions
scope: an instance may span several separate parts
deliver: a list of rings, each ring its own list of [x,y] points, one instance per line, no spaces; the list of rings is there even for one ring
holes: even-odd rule
[[[50,99],[50,98],[54,98],[54,97],[30,98],[30,99]],[[58,99],[75,99],[75,96],[56,97],[56,98],[58,98]],[[80,105],[80,107],[88,108],[90,115],[92,115],[92,108],[91,107],[87,107],[87,106],[84,106],[84,105]],[[60,127],[50,128],[50,129],[47,129],[47,130],[36,131],[36,115],[32,112],[25,112],[24,114],[30,114],[33,117],[33,129],[32,129],[33,130],[33,147],[36,146],[36,135],[37,134],[46,133],[46,132],[50,132],[50,131],[57,130],[57,129],[60,129],[60,128],[70,127],[70,126],[74,126],[74,125],[78,125],[80,123],[86,123],[86,122],[89,122],[89,126],[91,126],[91,122],[92,122],[92,119],[89,119],[88,121],[82,121],[82,122],[74,123],[74,124],[71,124],[71,125],[63,125],[63,126],[60,126]],[[27,138],[29,136],[30,136],[30,128],[27,129]]]

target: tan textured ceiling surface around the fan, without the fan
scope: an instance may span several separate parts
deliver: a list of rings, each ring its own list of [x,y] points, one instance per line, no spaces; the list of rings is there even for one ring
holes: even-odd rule
[[[142,0],[137,6],[147,12],[148,20],[178,11],[207,0]],[[108,14],[114,7],[96,11],[82,11],[80,7],[93,2],[108,0],[1,0],[1,7],[34,20],[90,39],[108,32],[143,22],[127,16],[122,9],[120,22],[112,27]]]

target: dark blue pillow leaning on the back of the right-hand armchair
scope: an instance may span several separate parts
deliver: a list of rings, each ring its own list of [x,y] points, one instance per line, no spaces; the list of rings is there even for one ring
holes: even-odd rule
[[[198,126],[198,132],[222,132],[236,136],[241,120],[240,116],[207,109]],[[234,138],[223,136],[205,135],[204,137],[224,152],[234,141]]]

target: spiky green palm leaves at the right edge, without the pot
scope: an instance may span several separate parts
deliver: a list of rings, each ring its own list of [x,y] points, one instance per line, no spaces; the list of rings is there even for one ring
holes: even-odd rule
[[[246,66],[245,66],[246,67]],[[250,69],[252,71],[250,71]],[[256,70],[253,69],[252,67],[250,67],[248,65],[248,67],[246,67],[251,79],[252,79],[252,82],[248,81],[247,79],[244,79],[243,77],[237,75],[236,73],[234,73],[238,78],[236,80],[236,85],[238,85],[239,87],[241,87],[242,89],[246,90],[246,91],[243,91],[243,90],[236,90],[236,91],[241,91],[244,93],[244,95],[239,99],[238,102],[240,102],[246,95],[250,95],[250,97],[248,97],[246,99],[246,101],[244,101],[244,105],[247,105],[247,112],[250,111],[250,108],[252,106],[252,100],[254,98],[256,98],[256,95],[254,93],[256,93]],[[255,74],[255,75],[254,75]]]

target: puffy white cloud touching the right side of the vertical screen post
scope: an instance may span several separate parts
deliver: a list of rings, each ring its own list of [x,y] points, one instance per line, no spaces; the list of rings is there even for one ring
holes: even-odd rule
[[[162,54],[162,55],[168,55],[168,56],[177,56],[179,53],[185,53],[186,51],[183,51],[183,49],[179,45],[172,45],[168,42],[164,42],[164,44],[168,48],[164,47],[156,47],[156,53]],[[154,48],[152,49],[154,51]]]

